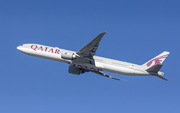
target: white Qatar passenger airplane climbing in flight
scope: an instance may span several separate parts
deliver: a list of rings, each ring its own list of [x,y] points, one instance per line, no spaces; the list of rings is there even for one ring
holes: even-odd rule
[[[103,72],[107,71],[128,76],[156,76],[167,81],[163,77],[164,73],[159,70],[170,52],[164,51],[142,65],[95,56],[99,43],[105,34],[106,32],[100,33],[77,52],[40,44],[23,44],[17,49],[30,56],[68,63],[68,72],[75,75],[93,72],[104,77],[122,80]]]

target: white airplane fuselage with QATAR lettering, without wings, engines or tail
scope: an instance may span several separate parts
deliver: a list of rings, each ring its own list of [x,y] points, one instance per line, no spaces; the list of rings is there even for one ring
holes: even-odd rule
[[[61,53],[63,51],[69,51],[69,50],[64,50],[57,47],[49,47],[39,44],[23,44],[21,46],[18,46],[17,49],[31,56],[64,62],[74,67],[79,67],[83,69],[95,70],[95,71],[108,71],[112,73],[131,75],[131,76],[151,76],[147,71],[145,71],[145,68],[141,65],[108,59],[99,56],[93,57],[95,61],[95,65],[89,63],[78,63],[73,60],[63,59],[61,58]],[[74,51],[69,51],[69,52],[76,53]]]

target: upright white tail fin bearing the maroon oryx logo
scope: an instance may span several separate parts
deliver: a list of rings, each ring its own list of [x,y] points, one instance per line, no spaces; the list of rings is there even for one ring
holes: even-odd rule
[[[159,54],[158,56],[156,56],[153,59],[149,60],[148,62],[144,63],[142,66],[144,66],[146,69],[148,69],[157,64],[162,64],[168,55],[169,55],[169,52],[164,51],[163,53]]]

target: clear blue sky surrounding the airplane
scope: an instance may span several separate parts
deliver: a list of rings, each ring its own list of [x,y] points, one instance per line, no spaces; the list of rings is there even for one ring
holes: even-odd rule
[[[178,0],[1,0],[1,113],[179,113]],[[143,64],[163,51],[169,81],[68,73],[68,64],[27,56],[37,43],[78,51],[107,31],[96,55]]]

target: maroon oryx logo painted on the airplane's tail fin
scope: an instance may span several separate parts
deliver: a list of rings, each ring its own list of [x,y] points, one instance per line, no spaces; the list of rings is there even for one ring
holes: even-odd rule
[[[168,54],[156,57],[156,58],[152,59],[151,61],[149,61],[146,65],[147,65],[147,67],[149,67],[149,66],[154,66],[156,64],[162,64],[162,62],[164,61],[164,59],[167,56],[168,56]]]

